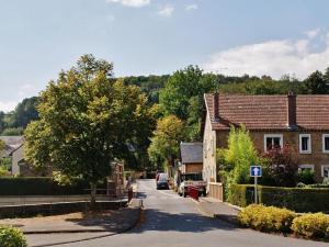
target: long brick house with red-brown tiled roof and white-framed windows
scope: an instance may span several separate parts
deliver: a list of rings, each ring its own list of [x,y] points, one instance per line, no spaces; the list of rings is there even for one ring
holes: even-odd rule
[[[205,94],[203,177],[217,181],[216,149],[227,147],[230,126],[243,124],[259,153],[288,144],[299,169],[329,177],[329,96]]]

